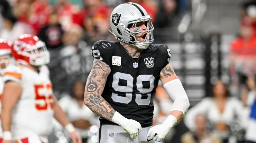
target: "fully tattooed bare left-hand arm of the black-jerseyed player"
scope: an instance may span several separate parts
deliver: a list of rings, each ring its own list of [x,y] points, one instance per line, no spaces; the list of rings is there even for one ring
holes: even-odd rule
[[[84,104],[90,108],[93,113],[112,121],[112,117],[116,111],[101,96],[109,73],[110,67],[106,63],[94,59],[92,70],[85,86]]]

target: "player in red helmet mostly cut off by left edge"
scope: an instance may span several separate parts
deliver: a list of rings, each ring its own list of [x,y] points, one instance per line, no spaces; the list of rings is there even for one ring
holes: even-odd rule
[[[1,100],[3,86],[4,86],[2,72],[12,61],[11,47],[12,47],[12,43],[9,40],[0,39],[0,100]],[[0,103],[0,107],[1,107],[1,103]],[[1,109],[0,109],[0,113],[1,113]],[[0,119],[1,119],[1,114],[0,114]],[[0,143],[2,143],[2,141],[3,141],[2,128],[0,128]]]

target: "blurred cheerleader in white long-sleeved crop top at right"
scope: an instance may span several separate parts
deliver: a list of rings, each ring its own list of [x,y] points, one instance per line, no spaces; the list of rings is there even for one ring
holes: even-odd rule
[[[231,134],[228,124],[231,124],[236,116],[240,120],[240,125],[244,126],[243,105],[238,99],[229,97],[229,91],[221,80],[218,80],[213,85],[212,94],[213,98],[204,98],[189,109],[184,122],[191,131],[195,131],[195,117],[197,114],[202,113],[213,124],[213,133],[219,136],[224,143],[227,143]]]

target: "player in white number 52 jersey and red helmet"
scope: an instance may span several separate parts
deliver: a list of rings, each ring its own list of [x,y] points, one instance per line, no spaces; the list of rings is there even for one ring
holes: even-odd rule
[[[74,143],[81,143],[53,96],[45,66],[50,60],[45,43],[37,36],[24,34],[13,42],[11,52],[20,65],[9,65],[3,72],[3,143],[47,143],[53,117],[65,126]]]

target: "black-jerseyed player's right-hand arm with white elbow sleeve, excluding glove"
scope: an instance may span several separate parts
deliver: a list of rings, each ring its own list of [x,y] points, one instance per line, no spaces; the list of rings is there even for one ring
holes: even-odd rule
[[[170,115],[177,118],[177,121],[181,121],[189,108],[189,100],[186,92],[176,76],[173,67],[167,64],[160,73],[160,80],[162,81],[165,90],[168,95],[174,101],[173,108]]]

